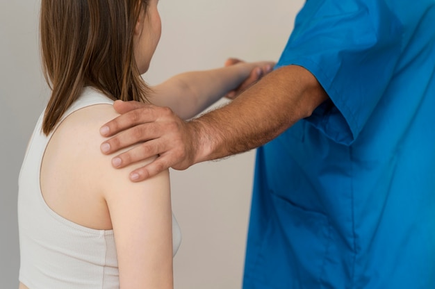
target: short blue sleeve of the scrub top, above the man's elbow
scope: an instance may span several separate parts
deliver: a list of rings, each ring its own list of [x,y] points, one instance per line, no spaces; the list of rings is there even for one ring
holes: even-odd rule
[[[307,0],[277,67],[299,65],[318,79],[330,100],[306,120],[350,145],[393,77],[401,34],[383,0]]]

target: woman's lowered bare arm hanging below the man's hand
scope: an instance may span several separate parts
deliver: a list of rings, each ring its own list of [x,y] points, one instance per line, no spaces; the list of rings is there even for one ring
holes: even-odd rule
[[[113,111],[113,109],[110,107]],[[113,113],[114,115],[114,113]],[[132,167],[142,167],[155,156]],[[140,183],[128,179],[131,168],[115,170],[95,163],[116,241],[120,288],[173,288],[172,210],[168,170]],[[102,171],[102,172],[101,172]]]

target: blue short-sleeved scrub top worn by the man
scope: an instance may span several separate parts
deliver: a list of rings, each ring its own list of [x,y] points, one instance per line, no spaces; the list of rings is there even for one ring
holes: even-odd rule
[[[243,288],[435,288],[435,1],[306,1],[284,65],[330,100],[257,151]]]

